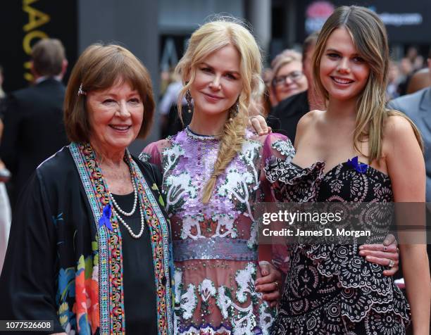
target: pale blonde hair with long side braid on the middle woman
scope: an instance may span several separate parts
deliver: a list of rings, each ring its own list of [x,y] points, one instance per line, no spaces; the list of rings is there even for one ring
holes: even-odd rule
[[[189,45],[175,68],[185,86],[178,97],[179,115],[182,115],[182,99],[194,82],[196,68],[199,63],[222,49],[224,46],[234,46],[241,57],[239,72],[242,80],[242,91],[238,97],[238,114],[235,115],[235,104],[230,108],[229,115],[220,135],[218,156],[214,170],[206,182],[202,203],[208,203],[213,193],[217,177],[225,172],[227,165],[241,150],[244,134],[249,118],[249,105],[258,101],[263,92],[261,79],[261,51],[249,30],[240,20],[230,17],[218,17],[196,30],[189,39]]]

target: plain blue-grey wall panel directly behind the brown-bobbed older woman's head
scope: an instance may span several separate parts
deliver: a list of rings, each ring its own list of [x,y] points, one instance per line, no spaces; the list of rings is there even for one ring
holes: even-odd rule
[[[149,70],[157,100],[160,76],[158,1],[78,0],[77,3],[79,51],[82,52],[94,42],[115,42],[125,46]],[[156,113],[156,118],[157,116]],[[157,124],[157,120],[155,123]],[[157,139],[158,127],[153,127],[146,141],[135,141],[130,150],[138,153],[144,148],[144,144]]]

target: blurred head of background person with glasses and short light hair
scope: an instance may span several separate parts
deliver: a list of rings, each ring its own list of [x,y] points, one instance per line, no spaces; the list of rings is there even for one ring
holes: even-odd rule
[[[302,69],[302,56],[298,51],[287,49],[271,62],[273,77],[270,83],[271,104],[308,89],[307,78]]]

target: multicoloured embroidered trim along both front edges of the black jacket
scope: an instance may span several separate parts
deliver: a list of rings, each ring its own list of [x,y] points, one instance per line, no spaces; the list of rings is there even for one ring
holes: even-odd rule
[[[70,144],[70,152],[75,160],[82,184],[84,185],[99,238],[99,297],[100,334],[125,332],[123,297],[123,253],[121,236],[115,214],[111,216],[113,232],[106,225],[99,228],[99,219],[106,205],[112,206],[107,195],[107,187],[89,144]],[[151,248],[157,292],[158,334],[172,334],[172,293],[170,289],[170,228],[151,192],[144,175],[126,151],[125,162],[129,165],[137,185],[139,200],[149,226]],[[110,243],[108,243],[110,241]],[[111,257],[109,257],[111,255]],[[119,285],[120,284],[120,285]],[[111,303],[111,305],[110,305]]]

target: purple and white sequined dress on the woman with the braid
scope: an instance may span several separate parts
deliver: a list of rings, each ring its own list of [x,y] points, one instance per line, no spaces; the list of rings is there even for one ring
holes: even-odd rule
[[[218,144],[187,128],[141,155],[163,172],[173,230],[175,334],[269,334],[273,312],[254,286],[260,274],[253,206],[263,200],[266,157],[292,158],[294,150],[282,135],[246,131],[242,151],[203,205]]]

